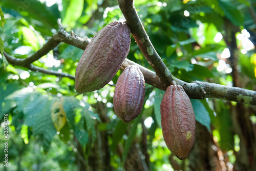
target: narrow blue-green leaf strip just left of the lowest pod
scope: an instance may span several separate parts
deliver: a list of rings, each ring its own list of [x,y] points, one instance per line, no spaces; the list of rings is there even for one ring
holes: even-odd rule
[[[155,118],[156,118],[156,121],[157,121],[157,124],[160,128],[162,128],[161,126],[161,114],[160,114],[160,104],[161,104],[161,101],[163,99],[163,95],[164,95],[164,91],[163,90],[160,90],[158,88],[155,88],[154,89],[156,91],[155,93],[155,104],[154,104],[154,113],[155,113]]]

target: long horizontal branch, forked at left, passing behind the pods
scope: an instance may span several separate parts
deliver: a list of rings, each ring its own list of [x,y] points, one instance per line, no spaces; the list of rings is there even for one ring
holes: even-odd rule
[[[61,24],[60,24],[59,32],[54,34],[52,39],[58,42],[65,42],[67,44],[76,46],[81,50],[85,50],[87,44],[90,42],[89,38],[85,38],[85,39],[80,38],[72,32],[71,32],[71,35],[68,34],[66,31],[63,30]],[[45,46],[49,46],[49,44],[46,43],[41,49],[48,51],[49,47],[45,47]],[[42,52],[42,54],[45,54],[45,53],[46,52]],[[23,59],[12,57],[8,55],[6,52],[4,52],[4,55],[6,56],[6,59],[8,60],[9,63],[24,66],[22,62],[21,63],[18,62]],[[143,73],[145,82],[147,84],[150,84],[164,91],[166,90],[167,85],[162,80],[160,80],[160,78],[156,75],[155,72],[129,59],[124,60],[122,66],[120,67],[120,70],[124,70],[124,68],[127,67],[128,65],[137,65],[140,68],[141,72]],[[39,71],[45,74],[55,75],[57,77],[68,77],[73,80],[75,79],[73,75],[70,75],[67,73],[63,73],[63,72],[59,73],[57,71],[53,71],[50,69],[34,66],[32,64],[25,65],[25,66],[30,70]],[[214,83],[207,83],[207,82],[195,81],[192,83],[186,83],[177,78],[175,78],[175,80],[177,84],[181,85],[184,88],[185,92],[187,93],[190,99],[215,98],[215,99],[222,99],[227,101],[241,102],[249,105],[256,105],[256,91],[246,90],[238,87],[229,87],[229,86],[224,86],[224,85],[214,84]]]

